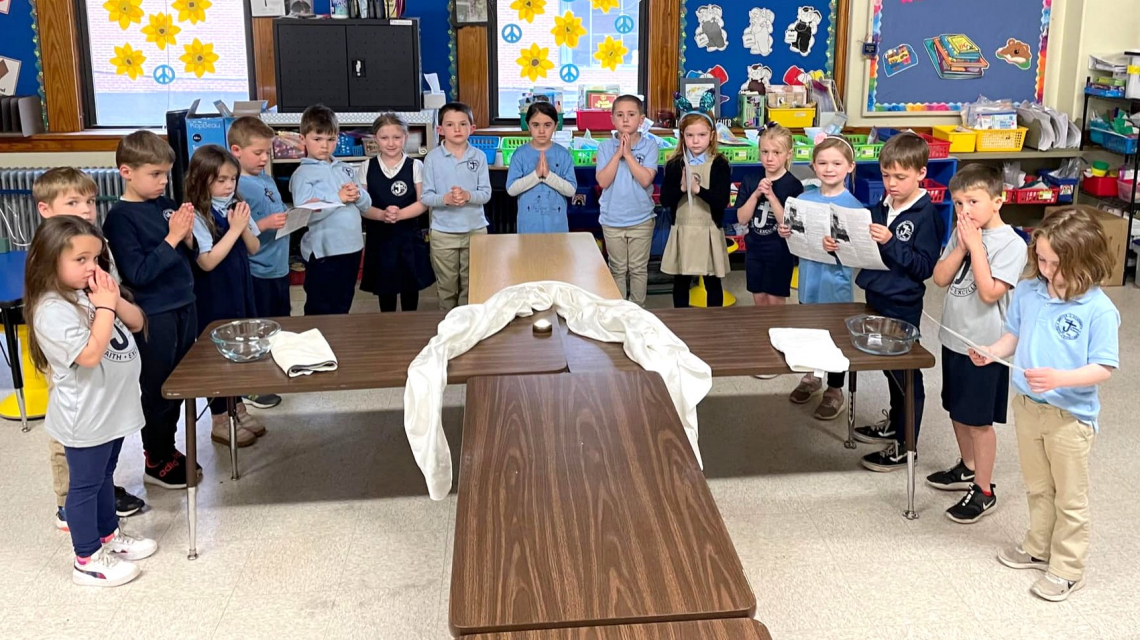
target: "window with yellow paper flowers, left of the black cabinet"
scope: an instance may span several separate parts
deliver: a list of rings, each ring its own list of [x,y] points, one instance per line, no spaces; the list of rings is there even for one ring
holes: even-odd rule
[[[87,52],[88,125],[162,125],[168,111],[187,108],[195,99],[206,113],[219,99],[250,99],[247,2],[79,2],[85,21],[79,31]]]

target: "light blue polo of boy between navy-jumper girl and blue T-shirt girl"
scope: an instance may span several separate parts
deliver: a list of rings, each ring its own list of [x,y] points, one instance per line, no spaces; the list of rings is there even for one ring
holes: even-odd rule
[[[471,194],[463,206],[443,204],[451,187]],[[491,200],[491,176],[487,154],[467,145],[462,154],[453,154],[440,145],[424,157],[424,184],[420,201],[431,208],[431,228],[446,234],[467,234],[488,226],[483,205]]]

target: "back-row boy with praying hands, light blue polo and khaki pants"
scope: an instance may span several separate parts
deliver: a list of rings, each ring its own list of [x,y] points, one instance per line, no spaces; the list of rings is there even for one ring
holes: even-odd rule
[[[617,137],[597,146],[597,185],[602,187],[600,221],[610,273],[618,291],[645,306],[649,252],[653,245],[653,179],[657,143],[641,135],[645,106],[637,96],[613,102]],[[626,278],[629,280],[628,287]]]

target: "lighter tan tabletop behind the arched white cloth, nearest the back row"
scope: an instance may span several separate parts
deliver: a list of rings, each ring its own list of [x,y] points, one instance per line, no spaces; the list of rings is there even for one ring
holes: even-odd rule
[[[621,299],[597,241],[587,233],[496,234],[471,237],[467,298],[486,302],[503,289],[553,280],[575,284],[608,300]]]

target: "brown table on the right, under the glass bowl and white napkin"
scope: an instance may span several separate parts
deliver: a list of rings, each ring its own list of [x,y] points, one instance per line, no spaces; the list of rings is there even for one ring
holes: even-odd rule
[[[792,373],[783,355],[768,341],[768,329],[825,329],[831,339],[850,360],[847,386],[850,402],[847,408],[848,448],[855,448],[855,398],[858,389],[860,371],[902,370],[903,390],[906,397],[906,518],[914,519],[914,370],[935,365],[934,356],[915,345],[902,356],[873,356],[852,345],[845,321],[860,314],[874,311],[863,303],[852,305],[787,305],[783,307],[724,307],[711,309],[656,309],[674,333],[689,346],[697,357],[712,368],[714,376],[764,375]],[[640,368],[626,357],[621,345],[597,342],[589,338],[570,333],[563,323],[562,345],[565,349],[570,371],[628,371]],[[747,337],[747,338],[746,338]]]

